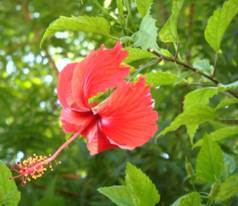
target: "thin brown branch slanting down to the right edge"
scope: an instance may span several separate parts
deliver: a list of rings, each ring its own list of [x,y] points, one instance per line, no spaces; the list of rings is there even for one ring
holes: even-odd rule
[[[168,62],[173,62],[173,63],[175,63],[175,64],[178,64],[178,65],[182,66],[182,67],[183,67],[184,69],[186,69],[186,70],[192,71],[192,72],[194,72],[194,73],[196,73],[196,74],[199,74],[200,76],[205,77],[206,79],[208,79],[208,80],[210,80],[211,82],[213,82],[216,86],[219,85],[219,84],[222,84],[221,82],[219,82],[218,80],[216,80],[214,77],[209,76],[209,75],[203,73],[202,71],[196,69],[195,67],[193,67],[193,66],[191,66],[191,65],[189,65],[189,64],[187,64],[187,63],[185,63],[185,62],[182,62],[182,61],[180,61],[180,60],[178,60],[178,59],[176,59],[176,58],[166,57],[166,56],[164,56],[164,55],[162,55],[162,54],[160,54],[160,53],[158,53],[158,52],[156,52],[156,51],[153,51],[153,54],[155,54],[157,57],[159,57],[159,59],[163,59],[164,61],[168,61]],[[230,95],[232,95],[232,96],[238,98],[238,95],[237,95],[236,93],[234,93],[233,91],[228,90],[227,92],[228,92]]]

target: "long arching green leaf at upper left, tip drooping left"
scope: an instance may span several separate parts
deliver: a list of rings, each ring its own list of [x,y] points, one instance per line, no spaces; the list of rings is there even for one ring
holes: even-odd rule
[[[109,35],[110,24],[103,17],[61,16],[48,26],[41,40],[41,46],[46,41],[46,39],[58,31],[82,31]]]

